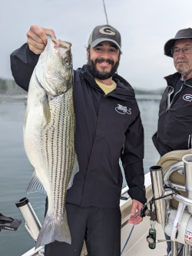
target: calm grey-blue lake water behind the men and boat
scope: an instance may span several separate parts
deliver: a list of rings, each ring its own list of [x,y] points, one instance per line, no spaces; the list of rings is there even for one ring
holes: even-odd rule
[[[152,97],[151,97],[152,98]],[[144,172],[156,164],[159,154],[151,136],[157,130],[159,100],[138,99],[141,119],[144,125]],[[31,180],[33,167],[28,161],[23,146],[22,126],[25,117],[25,103],[0,104],[0,212],[8,217],[22,219],[15,202],[26,197],[26,187]],[[123,187],[125,186],[125,181]],[[35,213],[41,223],[44,219],[45,195],[28,194]],[[24,227],[18,231],[0,232],[0,255],[21,256],[35,246],[35,241]]]

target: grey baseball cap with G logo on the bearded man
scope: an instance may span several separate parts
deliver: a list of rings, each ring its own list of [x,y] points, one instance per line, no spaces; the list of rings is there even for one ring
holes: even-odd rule
[[[121,35],[117,29],[114,29],[111,25],[97,25],[94,30],[91,32],[91,35],[88,39],[88,45],[91,45],[94,48],[98,43],[109,41],[114,42],[118,46],[118,49],[121,50]]]

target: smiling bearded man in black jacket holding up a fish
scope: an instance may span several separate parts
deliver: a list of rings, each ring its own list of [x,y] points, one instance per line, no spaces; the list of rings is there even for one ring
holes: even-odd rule
[[[45,54],[48,40],[51,38],[51,42],[55,44],[53,47],[59,49],[60,56],[64,56],[63,49],[67,43],[55,40],[53,30],[37,25],[31,25],[27,36],[28,43],[11,55],[15,82],[25,90],[28,90],[37,62],[37,66],[40,65],[38,59],[43,59],[42,55],[40,58],[39,55],[42,52]],[[116,73],[121,59],[121,35],[118,30],[111,25],[96,26],[88,39],[87,59],[87,65],[74,70],[74,148],[79,171],[74,176],[72,186],[68,188],[65,204],[71,244],[62,239],[49,242],[44,239],[42,241],[45,242],[46,256],[79,256],[84,240],[88,255],[121,254],[119,202],[123,178],[119,158],[123,163],[129,187],[128,194],[133,200],[129,223],[139,224],[142,221],[140,211],[146,202],[143,170],[144,130],[134,90]],[[69,64],[66,58],[64,61],[66,65]],[[59,65],[63,64],[60,62]],[[58,76],[58,71],[55,73]],[[65,72],[63,73],[65,75]],[[53,85],[55,79],[51,79]],[[45,89],[39,79],[37,83],[40,83],[39,89]],[[63,94],[57,96],[53,96],[51,91],[47,92],[48,104],[46,101],[42,109],[47,109],[47,106],[53,109],[53,100],[65,95],[64,90],[61,92]],[[43,103],[44,99],[41,100]],[[44,113],[47,116],[47,111]],[[39,177],[39,180],[43,184],[43,178]],[[46,192],[48,194],[47,190]],[[49,197],[46,211],[52,204]]]

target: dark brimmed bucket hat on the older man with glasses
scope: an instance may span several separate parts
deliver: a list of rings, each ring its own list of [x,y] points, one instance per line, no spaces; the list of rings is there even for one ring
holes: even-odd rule
[[[192,29],[180,29],[175,35],[174,39],[170,39],[164,45],[164,54],[173,57],[171,54],[171,49],[174,47],[174,43],[179,39],[192,39]]]

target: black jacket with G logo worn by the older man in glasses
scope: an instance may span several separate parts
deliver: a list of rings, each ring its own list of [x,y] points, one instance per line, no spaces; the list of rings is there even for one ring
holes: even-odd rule
[[[180,73],[165,77],[167,88],[161,99],[157,133],[152,140],[163,156],[173,150],[187,150],[192,147],[192,79],[182,84],[174,94]]]

